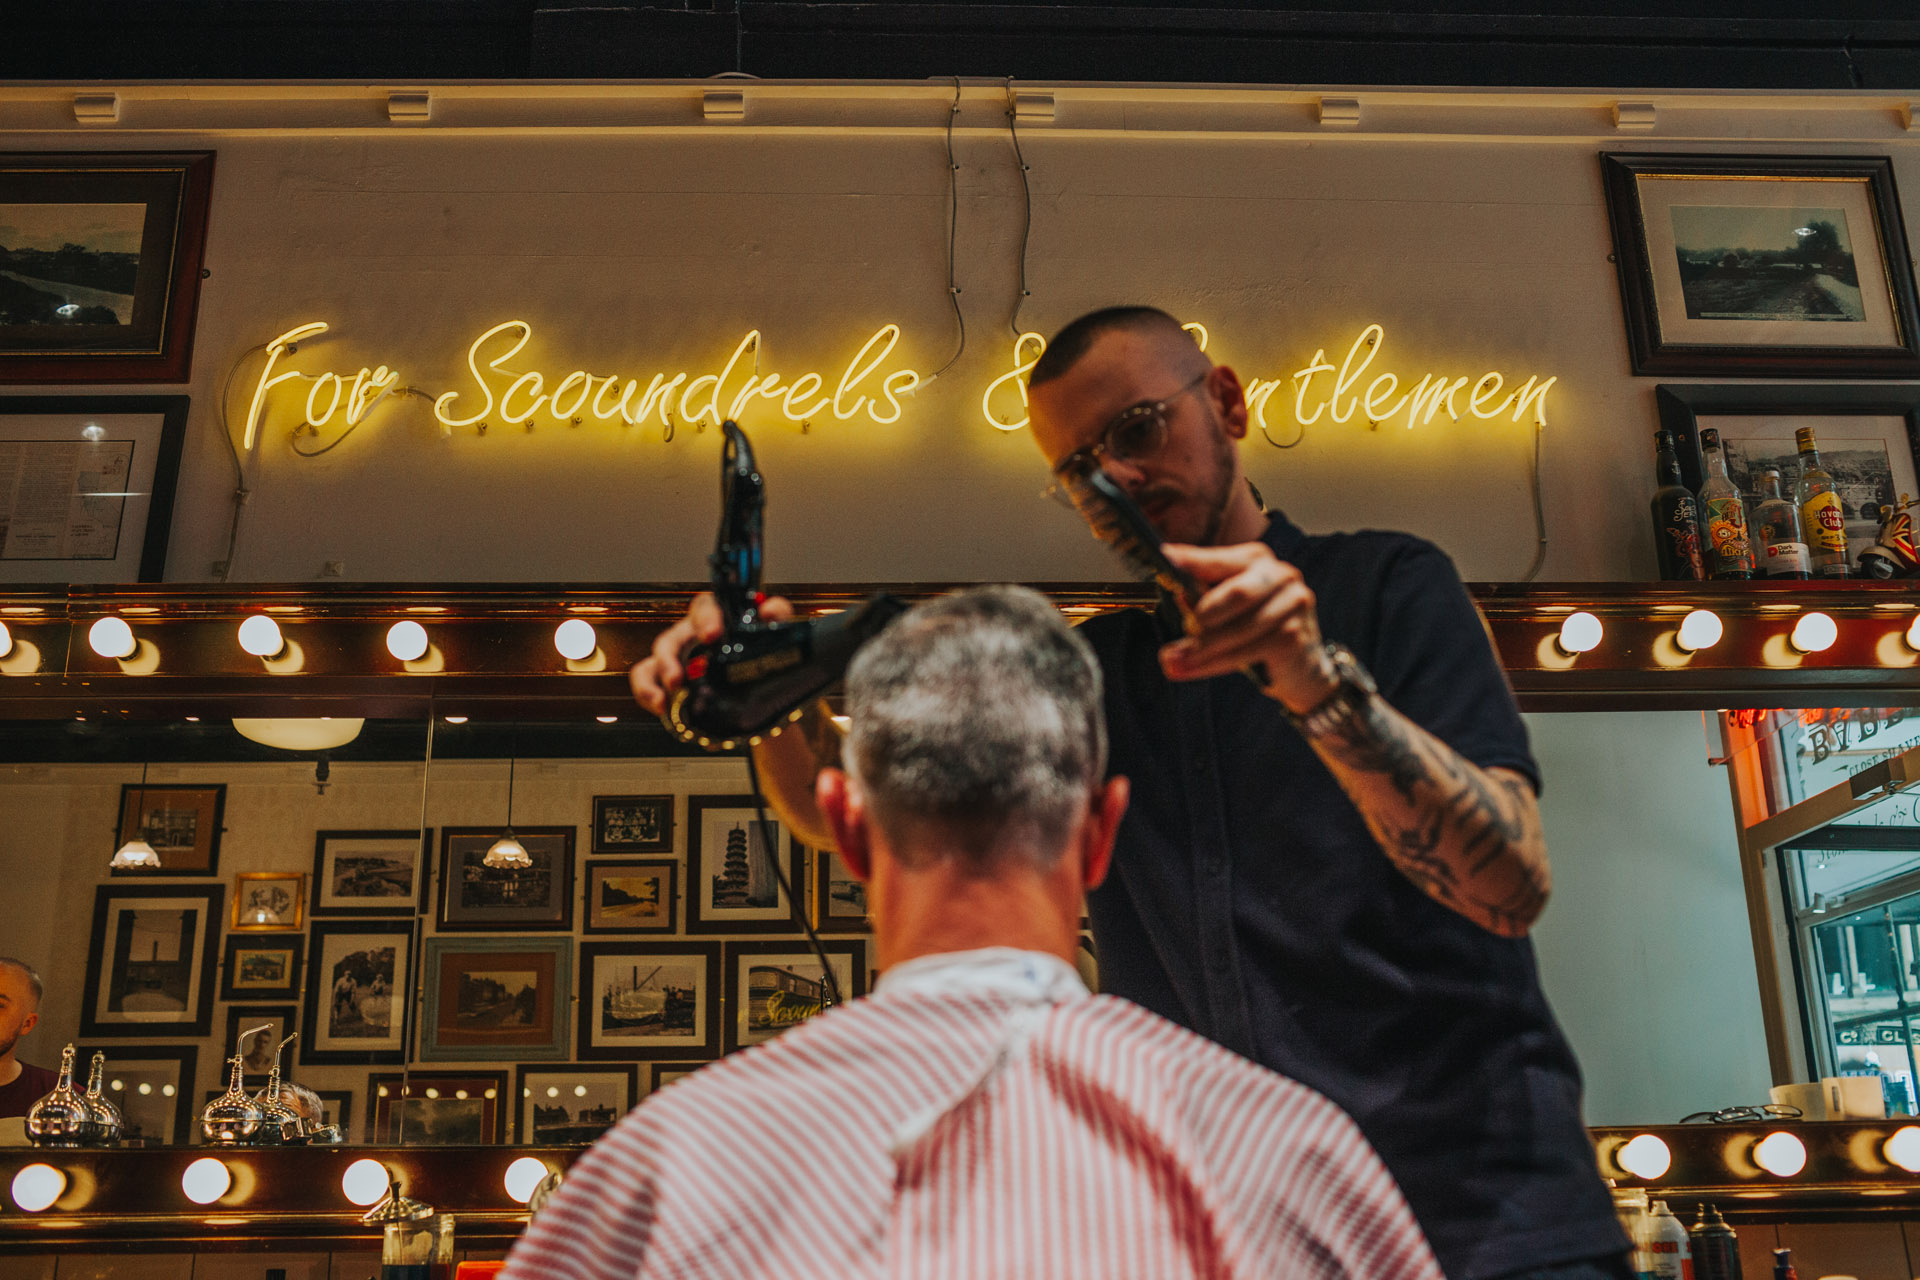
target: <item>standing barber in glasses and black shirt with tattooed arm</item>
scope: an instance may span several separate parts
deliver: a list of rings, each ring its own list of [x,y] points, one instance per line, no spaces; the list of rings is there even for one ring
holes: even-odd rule
[[[1162,311],[1081,317],[1027,386],[1056,480],[1106,470],[1206,587],[1190,633],[1167,601],[1081,628],[1133,779],[1089,896],[1102,988],[1344,1107],[1452,1280],[1630,1276],[1526,940],[1549,890],[1538,768],[1452,562],[1265,512],[1238,378]],[[697,599],[634,668],[639,702],[659,712],[718,633]],[[801,727],[758,760],[824,844],[812,775],[839,747],[822,716]]]

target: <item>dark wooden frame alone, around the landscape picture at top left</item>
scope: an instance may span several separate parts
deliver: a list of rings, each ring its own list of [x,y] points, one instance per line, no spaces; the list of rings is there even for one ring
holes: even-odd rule
[[[213,152],[4,152],[0,154],[0,209],[27,205],[132,205],[144,207],[140,249],[132,263],[131,294],[81,286],[67,307],[108,297],[125,299],[127,319],[84,324],[63,320],[0,322],[0,382],[186,382],[194,357],[194,313],[200,305],[207,209],[213,196]],[[13,248],[6,269],[48,284],[73,288],[79,280],[54,282],[50,273],[121,284],[127,263],[94,246],[81,246],[92,263],[58,263],[60,253]],[[23,253],[35,257],[23,259]],[[21,271],[25,269],[25,271]],[[108,280],[98,280],[106,274]],[[46,309],[65,294],[15,284],[0,315]],[[40,301],[46,299],[46,301]],[[56,309],[58,311],[58,309]],[[84,317],[83,309],[79,315]],[[117,313],[115,313],[117,315]]]

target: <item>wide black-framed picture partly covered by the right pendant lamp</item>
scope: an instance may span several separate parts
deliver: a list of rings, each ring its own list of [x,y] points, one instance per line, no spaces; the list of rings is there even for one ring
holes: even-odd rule
[[[482,929],[574,927],[574,829],[515,827],[515,837],[534,860],[530,867],[490,867],[486,850],[499,827],[444,827],[440,831],[440,933]]]

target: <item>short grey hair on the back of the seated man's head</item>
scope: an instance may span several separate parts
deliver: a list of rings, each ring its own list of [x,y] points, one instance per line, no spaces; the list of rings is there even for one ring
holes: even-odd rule
[[[1025,587],[899,618],[854,656],[847,712],[843,758],[876,823],[937,825],[981,869],[1016,842],[1052,865],[1106,771],[1100,666]]]

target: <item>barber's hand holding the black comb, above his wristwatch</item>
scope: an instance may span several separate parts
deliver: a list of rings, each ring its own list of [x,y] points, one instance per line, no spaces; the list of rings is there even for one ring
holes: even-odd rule
[[[1192,635],[1160,651],[1169,679],[1206,679],[1260,664],[1267,697],[1296,716],[1334,691],[1338,679],[1323,651],[1313,591],[1298,568],[1265,543],[1167,543],[1164,551],[1204,587],[1192,606]]]

